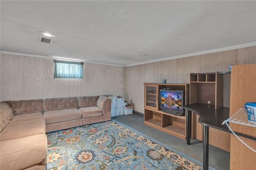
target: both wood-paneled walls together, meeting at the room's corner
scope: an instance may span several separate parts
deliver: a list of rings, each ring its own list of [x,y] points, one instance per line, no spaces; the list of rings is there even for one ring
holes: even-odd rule
[[[189,83],[191,72],[228,72],[230,64],[256,63],[256,46],[129,67],[84,63],[84,78],[53,78],[52,59],[0,55],[0,100],[113,94],[144,113],[144,82]]]

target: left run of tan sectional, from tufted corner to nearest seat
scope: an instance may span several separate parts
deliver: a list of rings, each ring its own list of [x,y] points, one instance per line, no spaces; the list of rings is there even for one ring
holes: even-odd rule
[[[20,170],[30,167],[38,170],[45,169],[47,138],[42,112],[38,112],[40,109],[37,109],[42,109],[43,100],[38,101],[7,101],[0,103],[1,169]],[[30,103],[28,107],[30,109],[20,110],[17,113],[24,104],[28,103]],[[30,113],[30,111],[36,112]]]

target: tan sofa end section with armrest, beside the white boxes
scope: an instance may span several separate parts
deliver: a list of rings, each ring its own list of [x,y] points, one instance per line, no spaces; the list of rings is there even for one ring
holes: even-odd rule
[[[111,99],[104,96],[79,96],[83,125],[111,119]]]

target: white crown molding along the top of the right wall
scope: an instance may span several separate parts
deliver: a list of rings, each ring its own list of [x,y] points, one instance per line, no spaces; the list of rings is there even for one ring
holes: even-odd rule
[[[221,49],[214,49],[214,50],[209,50],[209,51],[202,51],[202,52],[198,52],[198,53],[191,53],[191,54],[186,54],[186,55],[179,55],[179,56],[174,56],[174,57],[168,57],[168,58],[164,58],[164,59],[157,59],[157,60],[145,61],[145,62],[142,62],[142,63],[129,64],[129,65],[126,65],[125,67],[128,67],[128,66],[136,66],[136,65],[147,64],[147,63],[154,63],[154,62],[158,62],[158,61],[166,61],[166,60],[171,60],[171,59],[179,59],[179,58],[184,58],[184,57],[191,57],[191,56],[194,56],[194,55],[202,55],[202,54],[215,53],[215,52],[220,52],[220,51],[227,51],[227,50],[233,50],[233,49],[240,49],[240,48],[251,47],[251,46],[256,46],[256,42],[247,43],[247,44],[242,44],[242,45],[235,45],[235,46],[225,47],[225,48],[221,48]]]

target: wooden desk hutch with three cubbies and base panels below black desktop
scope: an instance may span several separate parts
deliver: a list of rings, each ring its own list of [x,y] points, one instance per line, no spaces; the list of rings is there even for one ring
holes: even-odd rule
[[[190,104],[210,104],[215,109],[229,107],[230,72],[190,73]],[[225,94],[225,95],[224,95]],[[203,126],[198,122],[198,115],[192,113],[191,138],[203,140]],[[209,128],[209,143],[230,151],[230,134]],[[219,138],[225,140],[219,140]],[[224,141],[224,142],[223,142]]]

